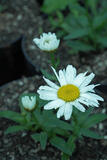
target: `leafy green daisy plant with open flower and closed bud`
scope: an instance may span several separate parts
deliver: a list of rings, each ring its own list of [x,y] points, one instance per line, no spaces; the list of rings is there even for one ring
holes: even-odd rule
[[[93,73],[77,74],[72,65],[59,73],[53,67],[52,70],[56,82],[43,77],[47,84],[40,86],[37,94],[20,96],[20,113],[1,111],[0,117],[16,122],[6,129],[6,134],[30,131],[31,138],[41,144],[42,150],[50,143],[61,151],[61,160],[70,160],[78,139],[104,138],[92,127],[107,119],[107,115],[93,112],[99,107],[98,101],[103,101],[95,93],[99,84],[90,84],[95,76]]]

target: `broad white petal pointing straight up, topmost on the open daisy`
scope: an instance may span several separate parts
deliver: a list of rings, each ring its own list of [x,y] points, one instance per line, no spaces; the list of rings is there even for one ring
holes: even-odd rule
[[[72,65],[68,65],[66,68],[66,80],[71,84],[76,77],[76,69]]]

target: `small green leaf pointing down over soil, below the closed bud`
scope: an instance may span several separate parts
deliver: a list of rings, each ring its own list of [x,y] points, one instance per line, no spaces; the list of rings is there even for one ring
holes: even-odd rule
[[[46,143],[47,143],[47,138],[48,138],[46,132],[35,133],[35,134],[32,134],[31,137],[32,137],[33,140],[35,140],[36,142],[37,142],[37,141],[40,142],[42,150],[44,150],[44,149],[46,148]]]

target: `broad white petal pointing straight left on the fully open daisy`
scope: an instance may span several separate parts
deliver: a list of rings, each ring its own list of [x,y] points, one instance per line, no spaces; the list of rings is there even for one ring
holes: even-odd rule
[[[37,90],[37,93],[39,93],[39,96],[43,100],[55,100],[57,99],[57,94],[51,91],[45,91],[45,90]]]

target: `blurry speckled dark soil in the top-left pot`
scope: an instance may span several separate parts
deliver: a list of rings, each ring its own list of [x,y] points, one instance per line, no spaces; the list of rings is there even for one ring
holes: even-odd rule
[[[42,20],[36,0],[8,0],[0,13],[0,46],[6,46],[20,35],[38,33]]]

